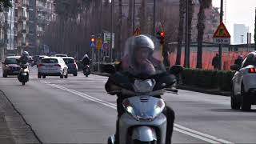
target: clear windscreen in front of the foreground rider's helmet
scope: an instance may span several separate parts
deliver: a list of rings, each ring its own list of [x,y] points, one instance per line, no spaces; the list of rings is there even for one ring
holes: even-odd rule
[[[126,40],[122,55],[122,70],[139,78],[150,78],[166,71],[157,38],[138,35]]]

